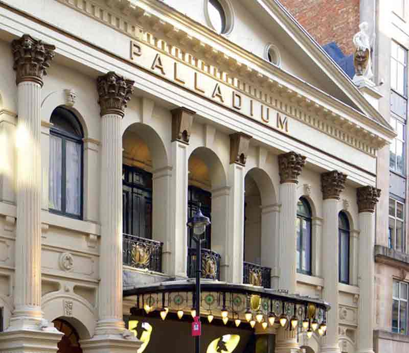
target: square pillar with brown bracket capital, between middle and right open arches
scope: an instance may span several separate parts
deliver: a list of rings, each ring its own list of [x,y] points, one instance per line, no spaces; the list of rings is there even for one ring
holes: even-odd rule
[[[244,261],[244,177],[248,146],[252,136],[242,132],[230,135],[228,232],[224,258],[225,280],[243,283]]]

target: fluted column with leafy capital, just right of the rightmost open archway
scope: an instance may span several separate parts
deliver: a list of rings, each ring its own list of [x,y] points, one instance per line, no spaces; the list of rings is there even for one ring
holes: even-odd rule
[[[280,282],[279,289],[296,293],[297,286],[297,184],[305,157],[296,152],[278,156],[280,173]]]

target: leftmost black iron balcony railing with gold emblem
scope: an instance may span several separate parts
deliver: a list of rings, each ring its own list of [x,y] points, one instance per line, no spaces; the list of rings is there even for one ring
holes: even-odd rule
[[[123,264],[134,268],[162,272],[163,243],[123,234]]]

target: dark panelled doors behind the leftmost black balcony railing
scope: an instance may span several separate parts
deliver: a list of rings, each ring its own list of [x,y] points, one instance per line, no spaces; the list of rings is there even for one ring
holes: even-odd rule
[[[152,174],[122,166],[123,232],[152,239]]]

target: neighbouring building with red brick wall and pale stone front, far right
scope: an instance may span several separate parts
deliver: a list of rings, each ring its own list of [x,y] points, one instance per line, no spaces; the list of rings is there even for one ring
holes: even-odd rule
[[[388,190],[377,208],[375,351],[409,350],[407,270],[407,49],[409,3],[396,1],[281,2],[324,47],[334,42],[345,54],[353,54],[351,32],[367,21],[373,41],[373,82],[382,95],[379,112],[396,129],[398,136],[378,157],[377,185]],[[327,7],[322,15],[323,3]],[[348,15],[347,15],[348,14]],[[348,17],[348,19],[346,19]],[[337,34],[334,34],[336,32]],[[339,61],[339,57],[334,57]],[[352,57],[349,60],[353,60]],[[388,215],[388,217],[387,217]]]

